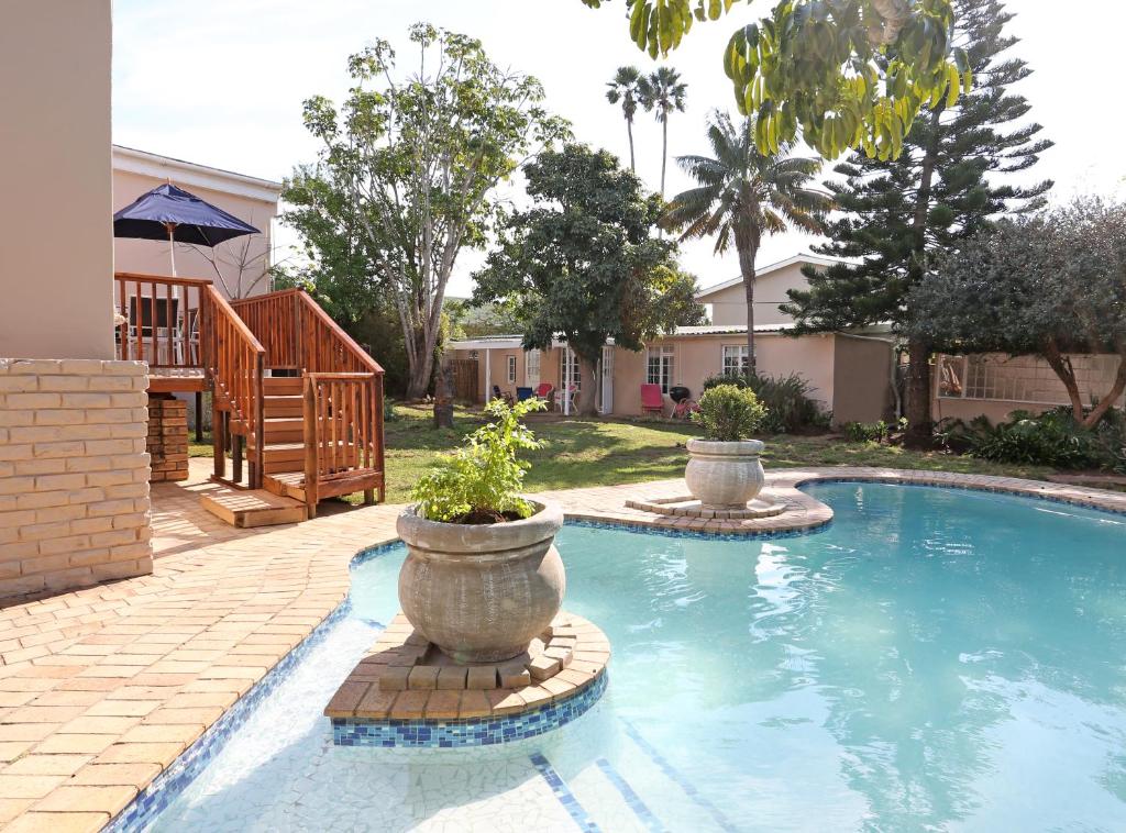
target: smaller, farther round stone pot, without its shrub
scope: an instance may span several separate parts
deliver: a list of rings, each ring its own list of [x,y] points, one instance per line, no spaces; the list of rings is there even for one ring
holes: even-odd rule
[[[762,491],[761,451],[758,440],[688,440],[688,491],[704,509],[745,509]]]

